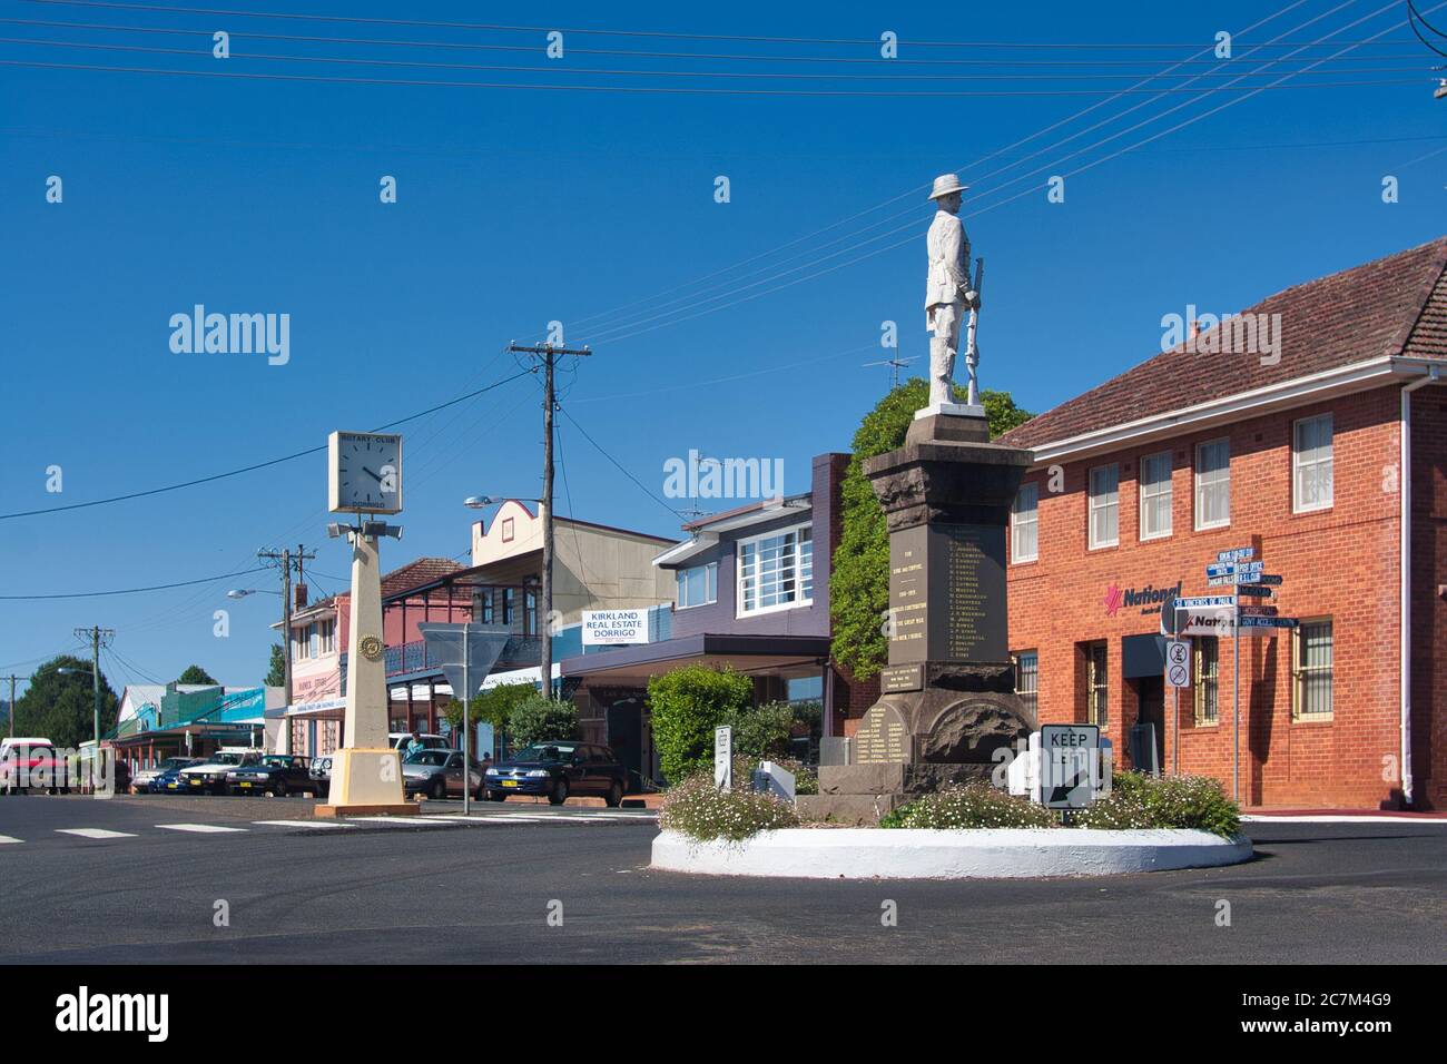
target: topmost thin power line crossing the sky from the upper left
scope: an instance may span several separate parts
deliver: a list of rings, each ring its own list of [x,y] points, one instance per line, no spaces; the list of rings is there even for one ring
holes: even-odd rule
[[[469,29],[485,32],[508,33],[574,33],[579,36],[622,36],[622,38],[658,38],[669,41],[734,41],[748,43],[781,43],[781,45],[860,45],[878,48],[880,39],[870,38],[786,38],[786,36],[757,36],[734,33],[680,33],[671,30],[638,30],[638,29],[598,29],[583,26],[519,26],[508,23],[482,22],[437,22],[424,19],[379,19],[346,14],[301,14],[297,12],[243,12],[236,9],[216,7],[174,7],[165,4],[120,3],[119,0],[29,0],[30,3],[67,6],[67,7],[104,7],[111,10],[133,12],[164,12],[166,14],[218,14],[240,19],[288,19],[297,22],[340,22],[373,26],[423,26],[431,29]],[[1101,49],[1150,49],[1150,48],[1200,48],[1198,41],[1187,42],[1024,42],[1024,41],[900,41],[900,46],[910,48],[1101,48]],[[1288,45],[1302,43],[1297,41],[1282,42]],[[1370,41],[1351,42],[1370,43]]]

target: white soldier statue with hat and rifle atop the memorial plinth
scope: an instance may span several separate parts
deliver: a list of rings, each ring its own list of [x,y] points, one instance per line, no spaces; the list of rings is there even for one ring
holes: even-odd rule
[[[959,221],[959,203],[968,185],[954,174],[935,178],[929,198],[938,210],[929,226],[929,282],[925,294],[926,327],[935,334],[929,343],[929,405],[916,417],[929,414],[980,415],[980,389],[975,381],[978,355],[974,347],[975,313],[980,310],[978,282],[969,281],[969,237]],[[978,275],[978,271],[977,271]],[[965,405],[955,402],[955,355],[959,350],[959,327],[969,311],[969,345],[965,365],[969,369],[969,392]]]

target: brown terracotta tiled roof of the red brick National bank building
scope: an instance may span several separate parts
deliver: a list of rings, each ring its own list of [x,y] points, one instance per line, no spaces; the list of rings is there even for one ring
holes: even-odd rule
[[[1195,349],[1156,355],[1062,402],[997,443],[1039,447],[1124,421],[1165,414],[1386,355],[1447,358],[1447,237],[1288,288],[1242,314],[1279,314],[1279,360]]]

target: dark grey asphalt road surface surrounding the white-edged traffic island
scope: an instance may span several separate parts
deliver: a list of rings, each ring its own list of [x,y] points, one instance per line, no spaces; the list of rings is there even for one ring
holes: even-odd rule
[[[1440,824],[1250,824],[1259,856],[1231,869],[813,882],[650,871],[657,828],[642,812],[505,803],[466,824],[259,822],[310,805],[0,799],[0,835],[19,840],[0,843],[0,963],[1447,960]],[[881,924],[886,902],[897,926]]]

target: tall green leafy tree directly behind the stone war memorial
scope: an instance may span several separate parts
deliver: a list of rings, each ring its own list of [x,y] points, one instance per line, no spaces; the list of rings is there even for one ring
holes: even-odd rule
[[[841,485],[842,530],[829,578],[832,651],[833,660],[860,679],[874,676],[888,662],[884,612],[890,605],[888,528],[864,476],[864,459],[903,447],[915,411],[928,402],[929,384],[917,376],[880,400],[854,434],[854,455]],[[984,389],[980,402],[991,439],[1035,417],[1020,410],[1010,392]]]

